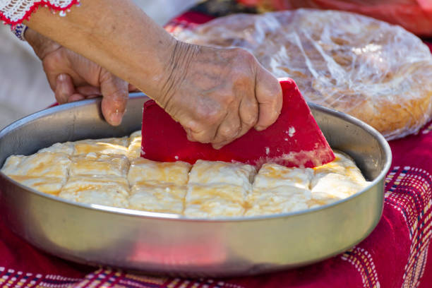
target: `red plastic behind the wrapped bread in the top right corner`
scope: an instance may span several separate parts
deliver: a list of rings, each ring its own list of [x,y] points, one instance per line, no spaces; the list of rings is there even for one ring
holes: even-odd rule
[[[416,35],[432,36],[431,0],[238,0],[264,11],[320,8],[349,11],[401,25]]]

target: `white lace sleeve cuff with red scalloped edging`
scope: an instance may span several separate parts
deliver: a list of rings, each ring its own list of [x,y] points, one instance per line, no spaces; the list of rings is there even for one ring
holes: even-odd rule
[[[10,25],[22,23],[38,6],[66,11],[79,0],[0,0],[0,19]]]

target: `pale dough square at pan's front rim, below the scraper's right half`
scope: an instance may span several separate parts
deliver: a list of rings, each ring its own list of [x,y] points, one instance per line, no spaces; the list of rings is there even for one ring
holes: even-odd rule
[[[308,209],[311,191],[296,186],[254,189],[245,216],[270,215]]]

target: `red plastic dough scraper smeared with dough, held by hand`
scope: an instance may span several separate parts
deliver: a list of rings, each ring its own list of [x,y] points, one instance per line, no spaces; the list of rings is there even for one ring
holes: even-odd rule
[[[154,101],[143,109],[141,157],[160,162],[220,160],[260,165],[276,162],[287,167],[316,167],[335,155],[316,124],[294,80],[281,78],[282,112],[264,131],[251,128],[241,138],[215,150],[210,144],[191,142],[186,131]]]

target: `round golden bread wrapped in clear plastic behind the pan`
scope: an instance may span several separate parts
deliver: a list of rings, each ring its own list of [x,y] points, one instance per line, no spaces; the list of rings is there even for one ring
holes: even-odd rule
[[[390,139],[431,119],[432,56],[399,26],[354,13],[299,9],[217,18],[180,40],[244,47],[306,100],[351,114]]]

